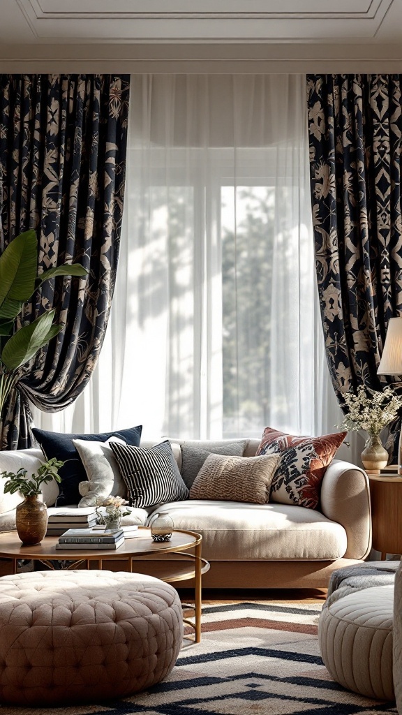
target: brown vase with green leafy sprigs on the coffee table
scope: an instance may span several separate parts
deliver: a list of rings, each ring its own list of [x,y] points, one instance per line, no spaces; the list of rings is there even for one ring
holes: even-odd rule
[[[4,484],[4,493],[15,494],[19,491],[24,496],[24,501],[16,506],[16,531],[24,546],[34,546],[40,543],[46,533],[47,509],[46,504],[39,501],[41,484],[54,479],[61,481],[59,468],[64,462],[52,458],[42,464],[37,473],[26,479],[26,469],[19,468],[18,472],[1,472],[0,477],[7,479]]]

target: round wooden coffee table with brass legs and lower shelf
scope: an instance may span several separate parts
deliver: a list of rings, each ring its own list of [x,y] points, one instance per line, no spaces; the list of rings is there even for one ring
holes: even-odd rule
[[[127,571],[147,573],[150,561],[155,561],[152,576],[160,578],[167,583],[195,579],[195,605],[194,623],[184,618],[184,622],[195,630],[195,642],[201,640],[201,611],[202,611],[202,573],[209,570],[210,564],[201,556],[202,536],[195,531],[172,531],[170,541],[152,541],[151,531],[145,526],[139,526],[138,536],[126,538],[122,546],[113,549],[57,549],[57,536],[45,536],[36,546],[24,546],[19,541],[16,531],[0,533],[0,558],[9,558],[13,562],[14,573],[17,570],[19,559],[35,559],[41,561],[49,568],[54,568],[52,561],[69,561],[66,568],[77,568],[85,563],[87,568],[102,568],[104,561],[125,561]],[[195,553],[188,553],[188,550]],[[167,554],[179,558],[165,558]],[[141,558],[147,557],[147,561]],[[161,560],[162,557],[162,560]],[[97,566],[96,566],[97,564]],[[143,568],[137,568],[139,566]]]

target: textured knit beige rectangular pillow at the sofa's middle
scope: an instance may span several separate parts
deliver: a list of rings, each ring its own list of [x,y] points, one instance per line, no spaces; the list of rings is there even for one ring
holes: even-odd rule
[[[197,474],[190,499],[266,504],[280,455],[224,457],[210,454]]]

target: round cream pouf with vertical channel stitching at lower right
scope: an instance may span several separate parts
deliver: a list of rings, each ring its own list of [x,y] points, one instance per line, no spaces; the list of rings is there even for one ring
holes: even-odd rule
[[[318,622],[321,656],[348,690],[393,700],[393,586],[348,593],[324,607]]]

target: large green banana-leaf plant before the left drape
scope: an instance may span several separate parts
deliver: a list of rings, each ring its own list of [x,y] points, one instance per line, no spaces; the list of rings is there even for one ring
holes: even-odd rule
[[[0,434],[1,415],[12,388],[21,378],[20,368],[63,330],[54,325],[54,310],[48,310],[29,325],[16,330],[16,318],[24,302],[45,280],[57,276],[87,275],[77,263],[50,268],[38,275],[38,240],[34,230],[16,236],[0,256]]]

